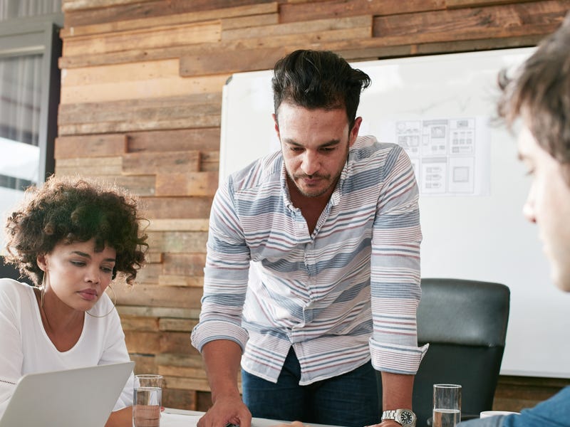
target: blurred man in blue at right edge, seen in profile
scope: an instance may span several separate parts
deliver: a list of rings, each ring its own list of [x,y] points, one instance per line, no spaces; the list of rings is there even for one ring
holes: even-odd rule
[[[532,176],[524,216],[539,226],[551,278],[570,292],[570,14],[522,65],[513,80],[502,75],[499,113],[517,117],[519,158]],[[567,337],[560,337],[567,339]],[[570,427],[570,386],[520,415],[493,416],[461,427]]]

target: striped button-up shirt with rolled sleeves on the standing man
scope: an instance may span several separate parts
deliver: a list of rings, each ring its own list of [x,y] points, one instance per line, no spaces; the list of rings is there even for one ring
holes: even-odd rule
[[[418,186],[395,144],[358,137],[316,228],[291,203],[281,152],[221,185],[210,215],[192,344],[231,339],[242,368],[276,382],[291,345],[299,384],[373,367],[415,374]]]

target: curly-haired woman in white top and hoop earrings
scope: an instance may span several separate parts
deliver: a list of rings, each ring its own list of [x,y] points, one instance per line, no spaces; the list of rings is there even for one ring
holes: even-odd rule
[[[0,279],[0,416],[24,374],[126,362],[125,335],[105,293],[131,284],[145,260],[136,200],[85,179],[48,179],[6,222],[6,261],[35,286]],[[131,426],[133,376],[107,426]]]

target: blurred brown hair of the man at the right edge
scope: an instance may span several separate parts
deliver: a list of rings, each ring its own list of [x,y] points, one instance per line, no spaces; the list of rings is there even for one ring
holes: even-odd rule
[[[570,14],[514,78],[500,73],[499,87],[499,115],[507,125],[522,116],[539,146],[570,164]]]

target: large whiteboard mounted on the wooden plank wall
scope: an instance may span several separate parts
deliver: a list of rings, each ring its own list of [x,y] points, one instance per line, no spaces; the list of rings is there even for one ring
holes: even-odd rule
[[[372,79],[361,96],[360,134],[378,136],[383,124],[399,118],[494,117],[497,73],[522,63],[533,50],[353,63]],[[271,75],[271,70],[234,74],[224,87],[220,182],[279,148],[271,119]],[[422,277],[509,286],[501,374],[570,378],[570,295],[551,282],[537,228],[522,216],[529,181],[517,160],[515,137],[500,123],[489,127],[488,135],[486,195],[420,196]]]

